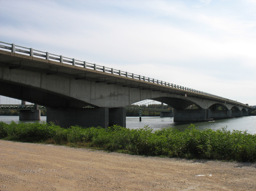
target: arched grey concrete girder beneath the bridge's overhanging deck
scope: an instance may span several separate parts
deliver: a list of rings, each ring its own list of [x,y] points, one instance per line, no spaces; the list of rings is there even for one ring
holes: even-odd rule
[[[230,110],[233,104],[198,97],[185,97],[156,90],[123,87],[120,84],[96,83],[88,80],[75,80],[60,75],[47,75],[22,69],[10,70],[0,67],[0,87],[2,95],[32,101],[48,107],[125,107],[142,100],[156,100],[185,109],[195,104],[199,109],[208,109],[220,104]],[[9,92],[8,92],[9,90]],[[242,106],[235,106],[240,111]],[[247,111],[248,109],[245,108]]]

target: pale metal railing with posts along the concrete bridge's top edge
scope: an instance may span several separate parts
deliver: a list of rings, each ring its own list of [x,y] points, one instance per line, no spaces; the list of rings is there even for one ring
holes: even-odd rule
[[[192,89],[192,88],[187,88],[187,87],[184,87],[184,86],[181,86],[181,85],[171,84],[169,82],[160,81],[158,79],[149,78],[149,77],[137,75],[137,74],[134,74],[134,73],[124,72],[124,71],[120,71],[120,70],[117,70],[117,69],[96,65],[94,63],[89,63],[89,62],[86,62],[86,61],[76,60],[74,58],[68,58],[68,57],[64,57],[62,55],[56,55],[56,54],[52,54],[52,53],[49,53],[49,52],[34,50],[33,48],[22,47],[22,46],[18,46],[18,45],[15,45],[15,44],[4,43],[4,42],[1,42],[1,41],[0,41],[0,48],[10,50],[13,53],[19,52],[21,54],[28,54],[29,56],[35,56],[35,57],[40,57],[40,58],[43,57],[46,60],[54,60],[54,61],[57,60],[61,63],[67,63],[67,64],[71,64],[71,65],[74,65],[74,66],[77,65],[77,66],[81,66],[83,68],[89,68],[89,69],[93,69],[93,70],[96,70],[96,71],[112,73],[114,75],[126,76],[128,78],[138,79],[138,80],[150,82],[150,83],[153,83],[153,84],[160,84],[160,85],[164,85],[164,86],[168,86],[168,87],[172,87],[172,88],[177,88],[179,90],[198,93],[198,94],[202,94],[202,95],[208,95],[208,96],[211,96],[211,97],[220,98],[220,99],[227,100],[227,101],[234,101],[234,100],[229,100],[228,98],[220,97],[220,96],[214,95],[214,94],[209,94],[209,93],[206,93],[206,92],[203,92],[203,91],[198,91],[198,90],[195,90],[195,89]],[[240,102],[237,102],[237,101],[234,101],[234,102],[236,102],[238,104],[243,104],[243,103],[240,103]]]

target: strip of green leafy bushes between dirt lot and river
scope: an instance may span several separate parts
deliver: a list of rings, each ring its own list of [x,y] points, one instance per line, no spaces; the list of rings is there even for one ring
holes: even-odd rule
[[[97,147],[146,156],[187,159],[219,159],[241,162],[256,161],[256,135],[246,131],[198,130],[191,124],[186,130],[165,128],[155,132],[145,126],[126,129],[114,125],[63,129],[54,123],[0,122],[0,138],[5,140]]]

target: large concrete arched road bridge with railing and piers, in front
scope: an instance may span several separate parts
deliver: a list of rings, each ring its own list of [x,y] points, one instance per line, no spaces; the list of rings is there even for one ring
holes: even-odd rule
[[[62,55],[4,42],[0,48],[0,94],[49,108],[47,121],[63,127],[125,126],[125,107],[146,99],[173,107],[174,121],[247,116],[252,109],[214,94]],[[199,109],[186,109],[192,104]],[[219,106],[225,110],[217,110]]]

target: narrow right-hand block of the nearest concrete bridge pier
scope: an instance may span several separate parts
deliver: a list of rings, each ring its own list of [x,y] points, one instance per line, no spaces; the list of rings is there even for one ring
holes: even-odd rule
[[[121,108],[109,108],[109,126],[120,125],[126,127],[126,109],[125,107]]]

